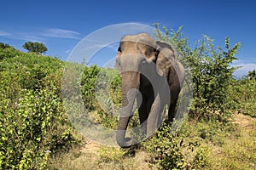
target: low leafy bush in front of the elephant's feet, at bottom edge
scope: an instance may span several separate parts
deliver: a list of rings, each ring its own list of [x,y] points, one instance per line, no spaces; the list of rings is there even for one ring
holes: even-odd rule
[[[199,133],[189,124],[181,132],[163,123],[152,139],[143,142],[143,148],[152,156],[152,163],[160,169],[200,169],[208,165],[208,148],[203,146]],[[183,133],[186,132],[186,133]]]

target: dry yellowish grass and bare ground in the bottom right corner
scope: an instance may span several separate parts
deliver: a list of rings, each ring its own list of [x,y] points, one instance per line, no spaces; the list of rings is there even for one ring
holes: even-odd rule
[[[234,116],[236,135],[224,139],[219,147],[212,145],[211,169],[256,169],[256,119],[241,114]]]

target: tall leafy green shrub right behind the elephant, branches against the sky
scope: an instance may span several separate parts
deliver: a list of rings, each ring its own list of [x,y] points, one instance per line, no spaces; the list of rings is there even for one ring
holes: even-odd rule
[[[230,48],[230,39],[225,38],[225,49],[215,48],[210,37],[203,36],[196,42],[195,48],[189,47],[186,37],[183,37],[182,27],[178,31],[168,31],[165,26],[161,33],[159,24],[155,24],[155,36],[160,40],[171,42],[177,49],[179,59],[191,71],[194,88],[194,104],[191,116],[209,119],[212,116],[228,116],[225,108],[230,105],[227,101],[228,86],[236,67],[231,66],[236,59],[235,54],[240,48],[240,42]]]

